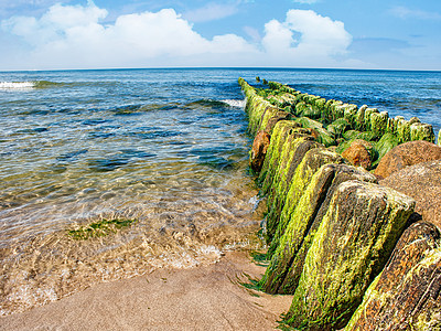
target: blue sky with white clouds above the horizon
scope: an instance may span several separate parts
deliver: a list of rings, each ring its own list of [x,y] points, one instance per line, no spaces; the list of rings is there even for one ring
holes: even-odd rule
[[[439,0],[0,0],[0,71],[441,71]]]

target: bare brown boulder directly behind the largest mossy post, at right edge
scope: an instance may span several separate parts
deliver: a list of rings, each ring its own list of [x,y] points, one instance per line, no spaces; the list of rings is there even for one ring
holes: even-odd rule
[[[416,212],[441,228],[441,160],[407,167],[379,184],[413,197]]]

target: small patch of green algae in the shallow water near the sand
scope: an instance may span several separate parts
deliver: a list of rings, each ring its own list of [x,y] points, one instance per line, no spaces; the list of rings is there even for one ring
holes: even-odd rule
[[[130,218],[103,218],[75,229],[67,231],[67,235],[76,241],[87,241],[89,238],[105,237],[117,233],[118,229],[132,225],[137,220]]]

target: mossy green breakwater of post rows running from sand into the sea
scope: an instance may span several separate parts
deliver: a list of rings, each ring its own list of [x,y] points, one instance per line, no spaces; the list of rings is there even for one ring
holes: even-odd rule
[[[268,206],[259,286],[293,295],[283,323],[441,330],[440,229],[374,170],[397,146],[433,145],[432,127],[279,83],[239,84],[255,136],[250,168]]]

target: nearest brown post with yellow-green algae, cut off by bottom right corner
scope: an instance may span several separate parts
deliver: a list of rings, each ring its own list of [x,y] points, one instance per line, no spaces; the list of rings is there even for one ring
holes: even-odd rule
[[[406,229],[345,331],[441,330],[440,245],[430,223]]]

